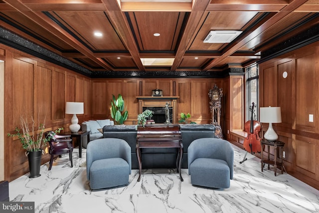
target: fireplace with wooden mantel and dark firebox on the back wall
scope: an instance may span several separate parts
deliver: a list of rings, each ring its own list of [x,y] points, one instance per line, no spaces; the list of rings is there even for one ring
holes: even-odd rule
[[[177,96],[160,96],[160,97],[150,97],[150,96],[138,96],[136,97],[139,101],[139,114],[144,112],[146,109],[154,111],[152,120],[155,123],[164,123],[166,121],[165,117],[165,104],[171,102],[168,107],[169,110],[169,121],[172,124],[176,124],[176,105],[177,105]]]

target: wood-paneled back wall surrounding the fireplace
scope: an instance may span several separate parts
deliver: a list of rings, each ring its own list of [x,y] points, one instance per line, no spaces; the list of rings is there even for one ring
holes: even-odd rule
[[[129,112],[125,124],[136,124],[138,115],[137,96],[152,96],[153,89],[161,89],[163,96],[176,96],[177,120],[180,113],[190,113],[191,121],[207,124],[211,122],[208,91],[215,83],[222,87],[222,80],[216,79],[94,79],[92,80],[92,115],[111,118],[112,94],[120,93]]]

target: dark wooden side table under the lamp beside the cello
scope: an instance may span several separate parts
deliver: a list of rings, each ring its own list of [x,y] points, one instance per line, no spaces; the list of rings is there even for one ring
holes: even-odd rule
[[[283,174],[283,171],[284,171],[284,161],[283,161],[283,154],[284,154],[284,146],[285,146],[285,143],[282,142],[282,141],[267,141],[267,140],[261,140],[260,141],[261,143],[261,171],[263,172],[263,169],[264,169],[264,164],[268,164],[268,170],[270,169],[269,168],[269,165],[273,165],[275,167],[275,176],[277,175],[277,165],[279,167],[281,167],[281,174]],[[267,160],[264,160],[264,152],[263,152],[263,145],[267,146],[268,147],[268,159]],[[269,158],[269,151],[270,151],[270,147],[274,147],[274,160],[270,160]],[[280,163],[277,164],[277,148],[280,148]]]

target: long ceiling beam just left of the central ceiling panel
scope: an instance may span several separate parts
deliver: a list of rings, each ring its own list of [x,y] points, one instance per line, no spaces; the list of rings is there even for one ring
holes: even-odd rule
[[[108,14],[115,30],[118,32],[121,40],[125,44],[126,48],[132,55],[132,59],[141,71],[145,71],[145,67],[140,59],[140,52],[137,44],[135,43],[133,33],[129,27],[129,23],[121,11],[120,5],[116,0],[102,0],[107,7],[106,13]]]

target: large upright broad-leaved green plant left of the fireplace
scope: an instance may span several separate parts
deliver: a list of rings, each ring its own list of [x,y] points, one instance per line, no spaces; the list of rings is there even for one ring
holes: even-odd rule
[[[118,95],[118,98],[115,99],[115,96],[112,94],[111,100],[111,116],[115,124],[123,124],[126,119],[128,119],[128,111],[124,111],[124,100],[121,94]],[[123,112],[124,111],[124,112]],[[123,114],[122,114],[123,113]]]

